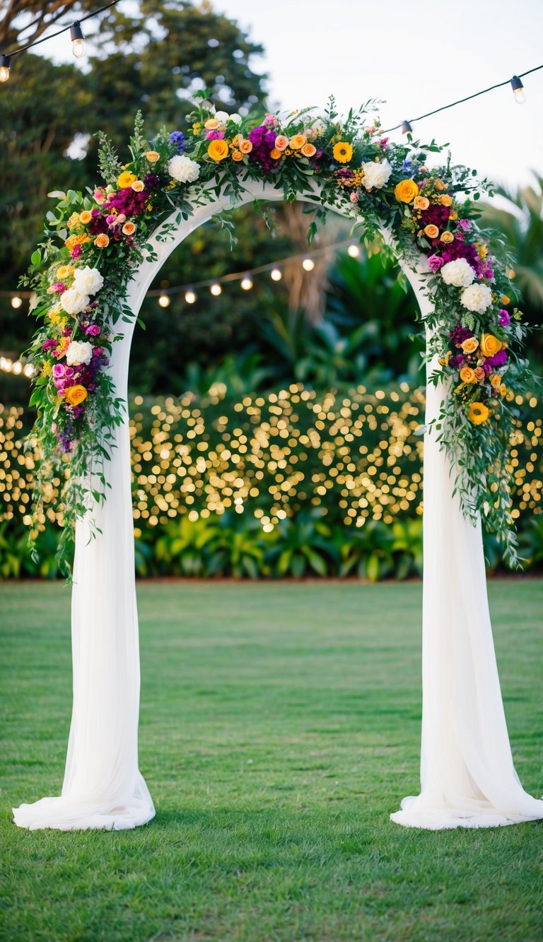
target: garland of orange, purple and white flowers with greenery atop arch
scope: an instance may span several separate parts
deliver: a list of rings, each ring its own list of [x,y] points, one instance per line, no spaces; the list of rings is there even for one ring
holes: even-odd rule
[[[309,241],[325,207],[334,206],[367,238],[387,229],[407,265],[426,256],[434,306],[427,357],[436,362],[433,382],[445,382],[436,430],[457,469],[464,512],[474,520],[483,513],[515,559],[507,447],[514,398],[528,377],[520,358],[525,325],[510,300],[511,259],[477,225],[476,201],[489,187],[450,157],[428,166],[442,151],[435,141],[392,143],[378,119],[368,118],[370,106],[342,120],[331,99],[322,115],[305,109],[258,121],[216,111],[202,93],[185,132],[162,130],[150,142],[139,115],[123,165],[100,137],[104,183],[86,194],[50,194],[56,211],[47,214],[46,241],[23,279],[35,292],[40,321],[28,353],[38,410],[31,441],[41,448],[34,535],[54,475],[65,481],[68,528],[89,494],[105,499],[104,463],[112,430],[123,422],[107,365],[118,322],[133,317],[126,286],[142,260],[154,257],[150,235],[168,238],[196,205],[220,192],[236,203],[246,181],[261,180],[281,187],[286,200],[314,203]],[[167,221],[175,211],[175,222]]]

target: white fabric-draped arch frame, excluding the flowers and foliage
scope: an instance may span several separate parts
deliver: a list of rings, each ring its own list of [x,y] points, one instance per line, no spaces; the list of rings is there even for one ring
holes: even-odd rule
[[[270,183],[244,187],[236,205],[284,198],[283,188]],[[315,185],[317,201],[319,193]],[[158,239],[164,223],[158,226],[149,240],[156,260],[145,261],[129,284],[126,302],[134,318],[114,345],[109,367],[125,417],[106,464],[107,500],[90,499],[75,531],[74,707],[64,783],[60,796],[14,809],[20,827],[122,830],[155,815],[138,762],[140,658],[126,409],[130,344],[141,302],[165,259],[189,233],[231,206],[230,195],[222,193],[196,206],[188,220],[178,222],[173,213],[166,223],[171,237]],[[325,208],[338,211],[337,206]],[[400,259],[399,264],[426,317],[432,300],[425,293],[425,256],[420,254],[417,270]],[[443,395],[442,384],[427,382],[427,426]],[[391,818],[428,829],[541,819],[543,801],[523,790],[513,765],[486,597],[481,524],[473,526],[463,514],[451,472],[436,430],[426,430],[420,795],[405,798]]]

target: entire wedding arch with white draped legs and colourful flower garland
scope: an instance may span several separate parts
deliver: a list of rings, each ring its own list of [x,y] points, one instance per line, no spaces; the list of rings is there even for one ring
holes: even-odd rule
[[[513,766],[485,590],[481,513],[515,556],[505,453],[523,382],[509,260],[479,232],[481,185],[434,141],[390,144],[365,110],[333,103],[261,122],[198,106],[186,139],[151,144],[140,119],[123,167],[102,139],[106,185],[53,193],[48,240],[25,284],[42,321],[36,519],[53,468],[75,529],[74,710],[62,793],[14,809],[30,829],[123,829],[155,814],[138,766],[140,661],[126,390],[141,302],[167,256],[228,208],[300,199],[380,232],[413,285],[427,337],[421,790],[407,826],[543,818]],[[429,161],[428,161],[429,162]],[[309,235],[316,223],[312,222]],[[507,310],[510,306],[510,311]]]

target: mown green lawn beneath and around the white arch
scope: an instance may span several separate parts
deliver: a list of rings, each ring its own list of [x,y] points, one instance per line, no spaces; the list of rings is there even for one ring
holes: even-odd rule
[[[515,760],[541,793],[543,582],[489,586]],[[58,794],[71,711],[69,591],[0,585],[0,938],[535,940],[538,822],[405,830],[416,794],[419,583],[139,586],[140,768],[131,832],[20,831]]]

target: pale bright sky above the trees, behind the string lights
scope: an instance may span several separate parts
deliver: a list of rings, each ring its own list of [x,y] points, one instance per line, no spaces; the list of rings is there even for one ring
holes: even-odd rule
[[[370,98],[384,128],[543,63],[543,0],[213,0],[265,55],[271,104],[347,112]],[[65,37],[41,46],[65,57]],[[454,163],[515,189],[543,175],[543,70],[414,124],[415,137],[450,143]],[[400,131],[392,138],[401,139]]]

